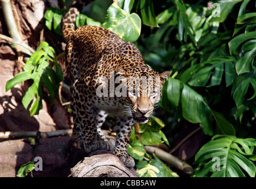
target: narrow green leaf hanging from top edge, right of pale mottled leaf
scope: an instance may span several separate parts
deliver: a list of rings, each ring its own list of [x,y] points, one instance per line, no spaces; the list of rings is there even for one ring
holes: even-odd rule
[[[152,0],[140,0],[140,13],[142,15],[143,24],[150,27],[159,27],[153,11]]]

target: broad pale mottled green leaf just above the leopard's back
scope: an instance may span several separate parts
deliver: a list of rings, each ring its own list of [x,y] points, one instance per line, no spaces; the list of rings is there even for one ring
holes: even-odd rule
[[[107,10],[107,18],[103,27],[113,31],[124,41],[136,41],[141,30],[141,21],[137,14],[128,14],[116,4]]]

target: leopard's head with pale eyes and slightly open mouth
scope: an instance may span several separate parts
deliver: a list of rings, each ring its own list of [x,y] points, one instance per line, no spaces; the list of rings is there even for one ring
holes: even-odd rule
[[[169,76],[169,71],[157,73],[146,66],[130,69],[117,67],[116,77],[119,77],[121,84],[116,86],[116,92],[123,94],[121,99],[127,107],[129,106],[135,122],[148,122],[155,105],[161,99],[162,85]]]

